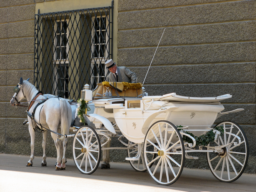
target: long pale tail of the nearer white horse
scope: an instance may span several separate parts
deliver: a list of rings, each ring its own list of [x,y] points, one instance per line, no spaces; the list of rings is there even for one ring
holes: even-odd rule
[[[62,135],[68,134],[72,121],[71,118],[72,112],[68,101],[65,99],[60,99],[60,128]]]

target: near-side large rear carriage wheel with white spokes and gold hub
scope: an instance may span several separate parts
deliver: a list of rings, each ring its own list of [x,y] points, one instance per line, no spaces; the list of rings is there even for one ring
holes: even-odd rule
[[[148,158],[154,154],[155,158]],[[185,148],[174,124],[157,121],[150,126],[144,140],[144,159],[149,175],[158,184],[171,185],[178,180],[184,167]]]

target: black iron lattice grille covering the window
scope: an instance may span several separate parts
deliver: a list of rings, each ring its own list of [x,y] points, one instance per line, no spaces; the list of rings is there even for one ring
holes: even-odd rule
[[[78,99],[106,80],[112,58],[113,1],[109,7],[35,15],[34,84],[44,93]]]

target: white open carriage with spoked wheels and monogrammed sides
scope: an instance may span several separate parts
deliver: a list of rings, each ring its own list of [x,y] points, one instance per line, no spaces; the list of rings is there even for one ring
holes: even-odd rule
[[[75,164],[80,172],[91,174],[98,168],[102,150],[127,149],[125,159],[136,171],[147,170],[158,184],[170,185],[180,177],[185,158],[198,158],[189,153],[206,152],[212,174],[220,181],[232,182],[247,164],[246,136],[231,121],[212,127],[218,117],[244,110],[221,113],[224,107],[220,101],[231,97],[195,98],[170,93],[92,100],[94,112],[86,116],[95,127],[84,125],[68,136],[74,136]],[[212,142],[196,145],[201,135],[207,135],[206,141],[213,138]],[[106,142],[100,143],[104,137]],[[125,147],[106,148],[113,137],[118,137]]]

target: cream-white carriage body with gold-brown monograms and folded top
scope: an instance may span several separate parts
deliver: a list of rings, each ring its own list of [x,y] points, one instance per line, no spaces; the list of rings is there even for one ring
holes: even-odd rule
[[[200,136],[212,127],[218,114],[224,110],[223,105],[216,100],[228,99],[226,95],[221,98],[173,98],[172,97],[145,96],[142,98],[100,99],[93,100],[94,114],[107,118],[116,124],[122,134],[134,143],[143,143],[148,128],[156,121],[166,120],[175,125],[187,127],[195,136]],[[180,96],[179,96],[180,97]],[[171,101],[170,101],[171,100]],[[189,102],[190,101],[190,102]],[[102,126],[100,120],[90,118],[97,128]],[[203,131],[199,131],[203,130]]]

